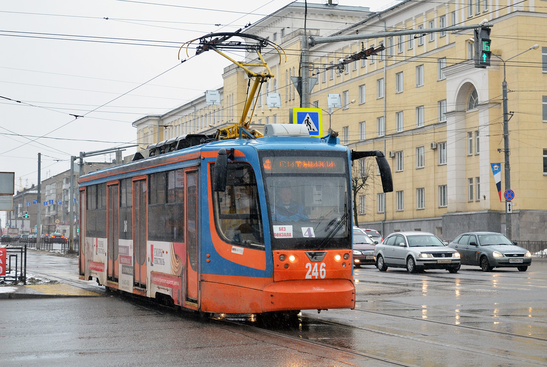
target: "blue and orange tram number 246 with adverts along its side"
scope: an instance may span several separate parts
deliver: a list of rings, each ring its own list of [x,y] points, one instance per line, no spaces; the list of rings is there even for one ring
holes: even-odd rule
[[[392,191],[383,153],[301,125],[207,138],[80,177],[80,278],[208,313],[353,309],[351,162]]]

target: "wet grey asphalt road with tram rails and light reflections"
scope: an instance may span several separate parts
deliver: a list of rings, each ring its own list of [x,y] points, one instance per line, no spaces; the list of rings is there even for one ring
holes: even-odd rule
[[[102,292],[78,280],[76,258],[31,258],[30,272]],[[256,323],[245,317],[203,321],[104,293],[0,300],[0,365],[547,365],[547,260],[525,273],[363,267],[354,275],[356,310],[305,311],[265,331],[246,328]]]

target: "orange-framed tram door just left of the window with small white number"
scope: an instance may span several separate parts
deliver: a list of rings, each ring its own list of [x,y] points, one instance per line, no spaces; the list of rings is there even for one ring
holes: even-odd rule
[[[120,196],[118,185],[108,186],[108,266],[107,279],[118,281],[118,238],[119,238],[119,213]]]

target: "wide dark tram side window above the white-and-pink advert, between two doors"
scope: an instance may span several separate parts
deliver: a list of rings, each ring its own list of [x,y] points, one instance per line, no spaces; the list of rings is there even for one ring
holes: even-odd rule
[[[184,170],[150,174],[148,239],[184,241]]]

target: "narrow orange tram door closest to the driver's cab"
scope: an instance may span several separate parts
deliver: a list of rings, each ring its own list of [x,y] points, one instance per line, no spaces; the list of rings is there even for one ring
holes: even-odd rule
[[[197,304],[197,171],[186,172],[187,301]]]

